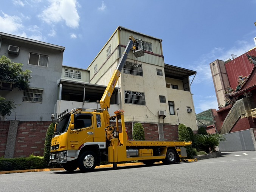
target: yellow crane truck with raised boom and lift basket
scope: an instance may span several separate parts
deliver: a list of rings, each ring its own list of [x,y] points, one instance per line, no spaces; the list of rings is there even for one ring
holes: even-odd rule
[[[117,163],[123,161],[173,164],[187,156],[185,146],[192,142],[128,140],[124,111],[120,109],[114,112],[115,115],[109,115],[110,97],[131,48],[135,57],[144,55],[142,40],[130,36],[99,109],[75,108],[57,119],[50,163],[62,164],[70,172],[78,167],[82,172],[90,172],[101,161],[113,163],[116,169]]]

